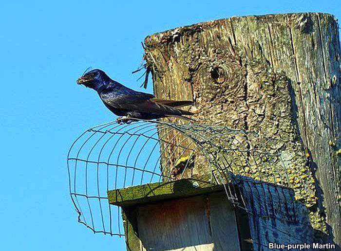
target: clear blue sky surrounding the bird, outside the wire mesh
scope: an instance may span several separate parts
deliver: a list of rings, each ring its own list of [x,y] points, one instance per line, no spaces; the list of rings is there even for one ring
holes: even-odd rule
[[[218,18],[305,11],[341,18],[335,0],[0,1],[1,249],[125,250],[123,238],[78,224],[68,195],[70,144],[115,118],[94,91],[76,85],[87,67],[140,90],[131,72],[145,36]]]

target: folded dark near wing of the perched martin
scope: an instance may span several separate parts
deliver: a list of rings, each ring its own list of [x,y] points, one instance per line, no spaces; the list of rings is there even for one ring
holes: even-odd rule
[[[122,88],[123,87],[123,88]],[[124,86],[115,85],[103,90],[100,97],[107,105],[126,111],[137,111],[160,115],[191,115],[191,112],[183,111],[170,106],[154,102],[152,94],[134,91]]]

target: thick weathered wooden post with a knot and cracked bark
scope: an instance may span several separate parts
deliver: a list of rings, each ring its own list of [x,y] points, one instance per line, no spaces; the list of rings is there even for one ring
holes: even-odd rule
[[[312,226],[340,245],[341,76],[334,16],[233,17],[154,34],[145,46],[157,98],[193,100],[189,110],[197,112],[198,123],[257,131],[283,143],[268,146],[286,156],[296,198],[308,207]]]

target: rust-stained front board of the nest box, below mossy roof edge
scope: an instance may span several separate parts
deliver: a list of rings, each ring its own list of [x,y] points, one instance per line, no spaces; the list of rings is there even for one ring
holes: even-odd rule
[[[240,250],[234,210],[224,198],[212,193],[138,207],[142,250]]]

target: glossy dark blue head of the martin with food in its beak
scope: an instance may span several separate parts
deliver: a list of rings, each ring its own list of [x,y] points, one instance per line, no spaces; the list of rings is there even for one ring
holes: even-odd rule
[[[103,86],[110,83],[110,77],[102,70],[95,69],[90,72],[86,72],[80,78],[77,79],[78,85],[84,85],[94,90],[99,90]]]

